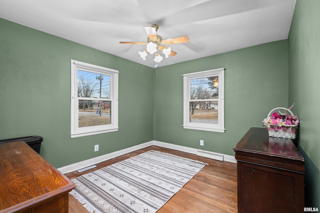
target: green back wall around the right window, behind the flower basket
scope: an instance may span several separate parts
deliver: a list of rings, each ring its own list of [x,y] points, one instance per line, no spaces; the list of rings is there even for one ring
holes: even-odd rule
[[[275,107],[288,107],[287,41],[183,63],[154,73],[153,139],[234,156],[233,147]],[[224,67],[225,133],[183,129],[182,74]],[[204,140],[204,146],[199,140]]]

